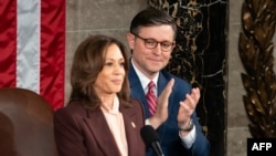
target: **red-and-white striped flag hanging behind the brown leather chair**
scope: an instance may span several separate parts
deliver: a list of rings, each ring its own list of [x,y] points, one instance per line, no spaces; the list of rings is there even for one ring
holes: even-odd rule
[[[65,0],[0,1],[0,87],[64,105]]]

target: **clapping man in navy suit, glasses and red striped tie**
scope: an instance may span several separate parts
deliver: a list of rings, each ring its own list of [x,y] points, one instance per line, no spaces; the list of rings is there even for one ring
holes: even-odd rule
[[[208,156],[209,141],[194,112],[200,90],[192,89],[187,81],[163,71],[176,45],[176,22],[164,11],[146,9],[132,19],[127,34],[131,50],[131,96],[144,104],[146,124],[158,132],[166,156]],[[150,90],[148,83],[151,81],[156,85],[153,93],[158,96],[153,114],[147,101],[147,92]],[[168,105],[162,105],[160,103],[166,100],[162,92],[167,92],[169,86],[172,89]],[[147,149],[147,156],[155,156],[152,149]]]

